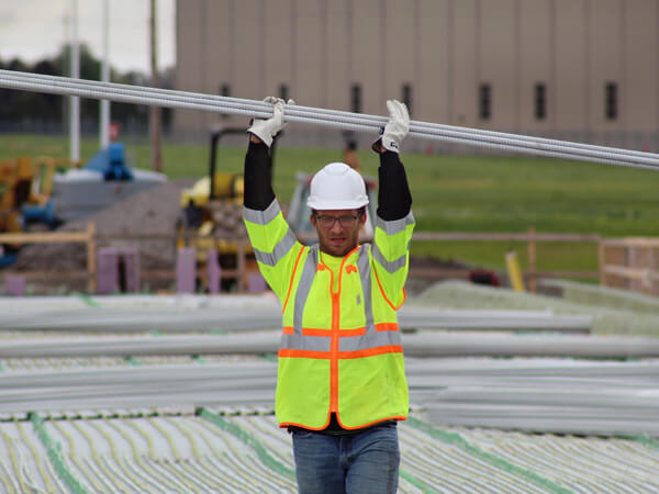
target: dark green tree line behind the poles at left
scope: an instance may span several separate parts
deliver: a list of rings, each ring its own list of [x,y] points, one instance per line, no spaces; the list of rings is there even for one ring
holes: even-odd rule
[[[2,60],[0,69],[16,70],[46,76],[70,75],[70,49],[63,46],[52,58],[44,58],[32,65],[20,58]],[[80,78],[99,80],[101,60],[96,58],[85,44],[80,45]],[[160,72],[160,87],[171,88],[174,71]],[[112,82],[125,85],[149,86],[150,79],[137,71],[119,72],[110,69]],[[122,126],[122,133],[145,133],[148,128],[148,108],[138,104],[112,102],[111,120]],[[80,120],[83,132],[97,132],[99,125],[99,100],[80,99]],[[0,88],[0,131],[38,132],[55,130],[66,132],[68,128],[69,98],[59,94],[21,91]],[[169,109],[163,109],[163,125],[167,131],[171,121]]]

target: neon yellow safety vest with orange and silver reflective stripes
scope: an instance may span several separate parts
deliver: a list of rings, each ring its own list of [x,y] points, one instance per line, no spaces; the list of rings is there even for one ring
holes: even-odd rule
[[[405,300],[412,213],[378,217],[373,244],[358,246],[334,270],[317,245],[297,240],[277,201],[266,211],[245,207],[244,218],[260,272],[282,305],[279,425],[320,430],[332,413],[346,429],[405,419],[395,311]]]

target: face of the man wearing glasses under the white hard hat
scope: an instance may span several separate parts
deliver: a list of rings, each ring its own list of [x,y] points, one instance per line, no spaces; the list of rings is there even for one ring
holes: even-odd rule
[[[311,224],[319,234],[321,251],[343,257],[357,247],[359,228],[366,214],[358,210],[316,211],[311,213]]]

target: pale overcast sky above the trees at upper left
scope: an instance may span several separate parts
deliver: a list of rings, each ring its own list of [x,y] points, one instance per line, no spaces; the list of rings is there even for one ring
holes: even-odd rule
[[[156,0],[158,67],[175,64],[175,0]],[[0,58],[34,63],[55,55],[70,36],[74,0],[0,0]],[[77,0],[78,37],[91,53],[103,53],[103,0]],[[120,71],[150,72],[149,0],[110,0],[110,65]]]

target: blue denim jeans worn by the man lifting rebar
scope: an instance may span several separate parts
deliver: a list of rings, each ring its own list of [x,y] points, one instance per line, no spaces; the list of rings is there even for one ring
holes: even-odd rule
[[[292,435],[300,494],[396,492],[401,456],[395,423],[349,436]]]

